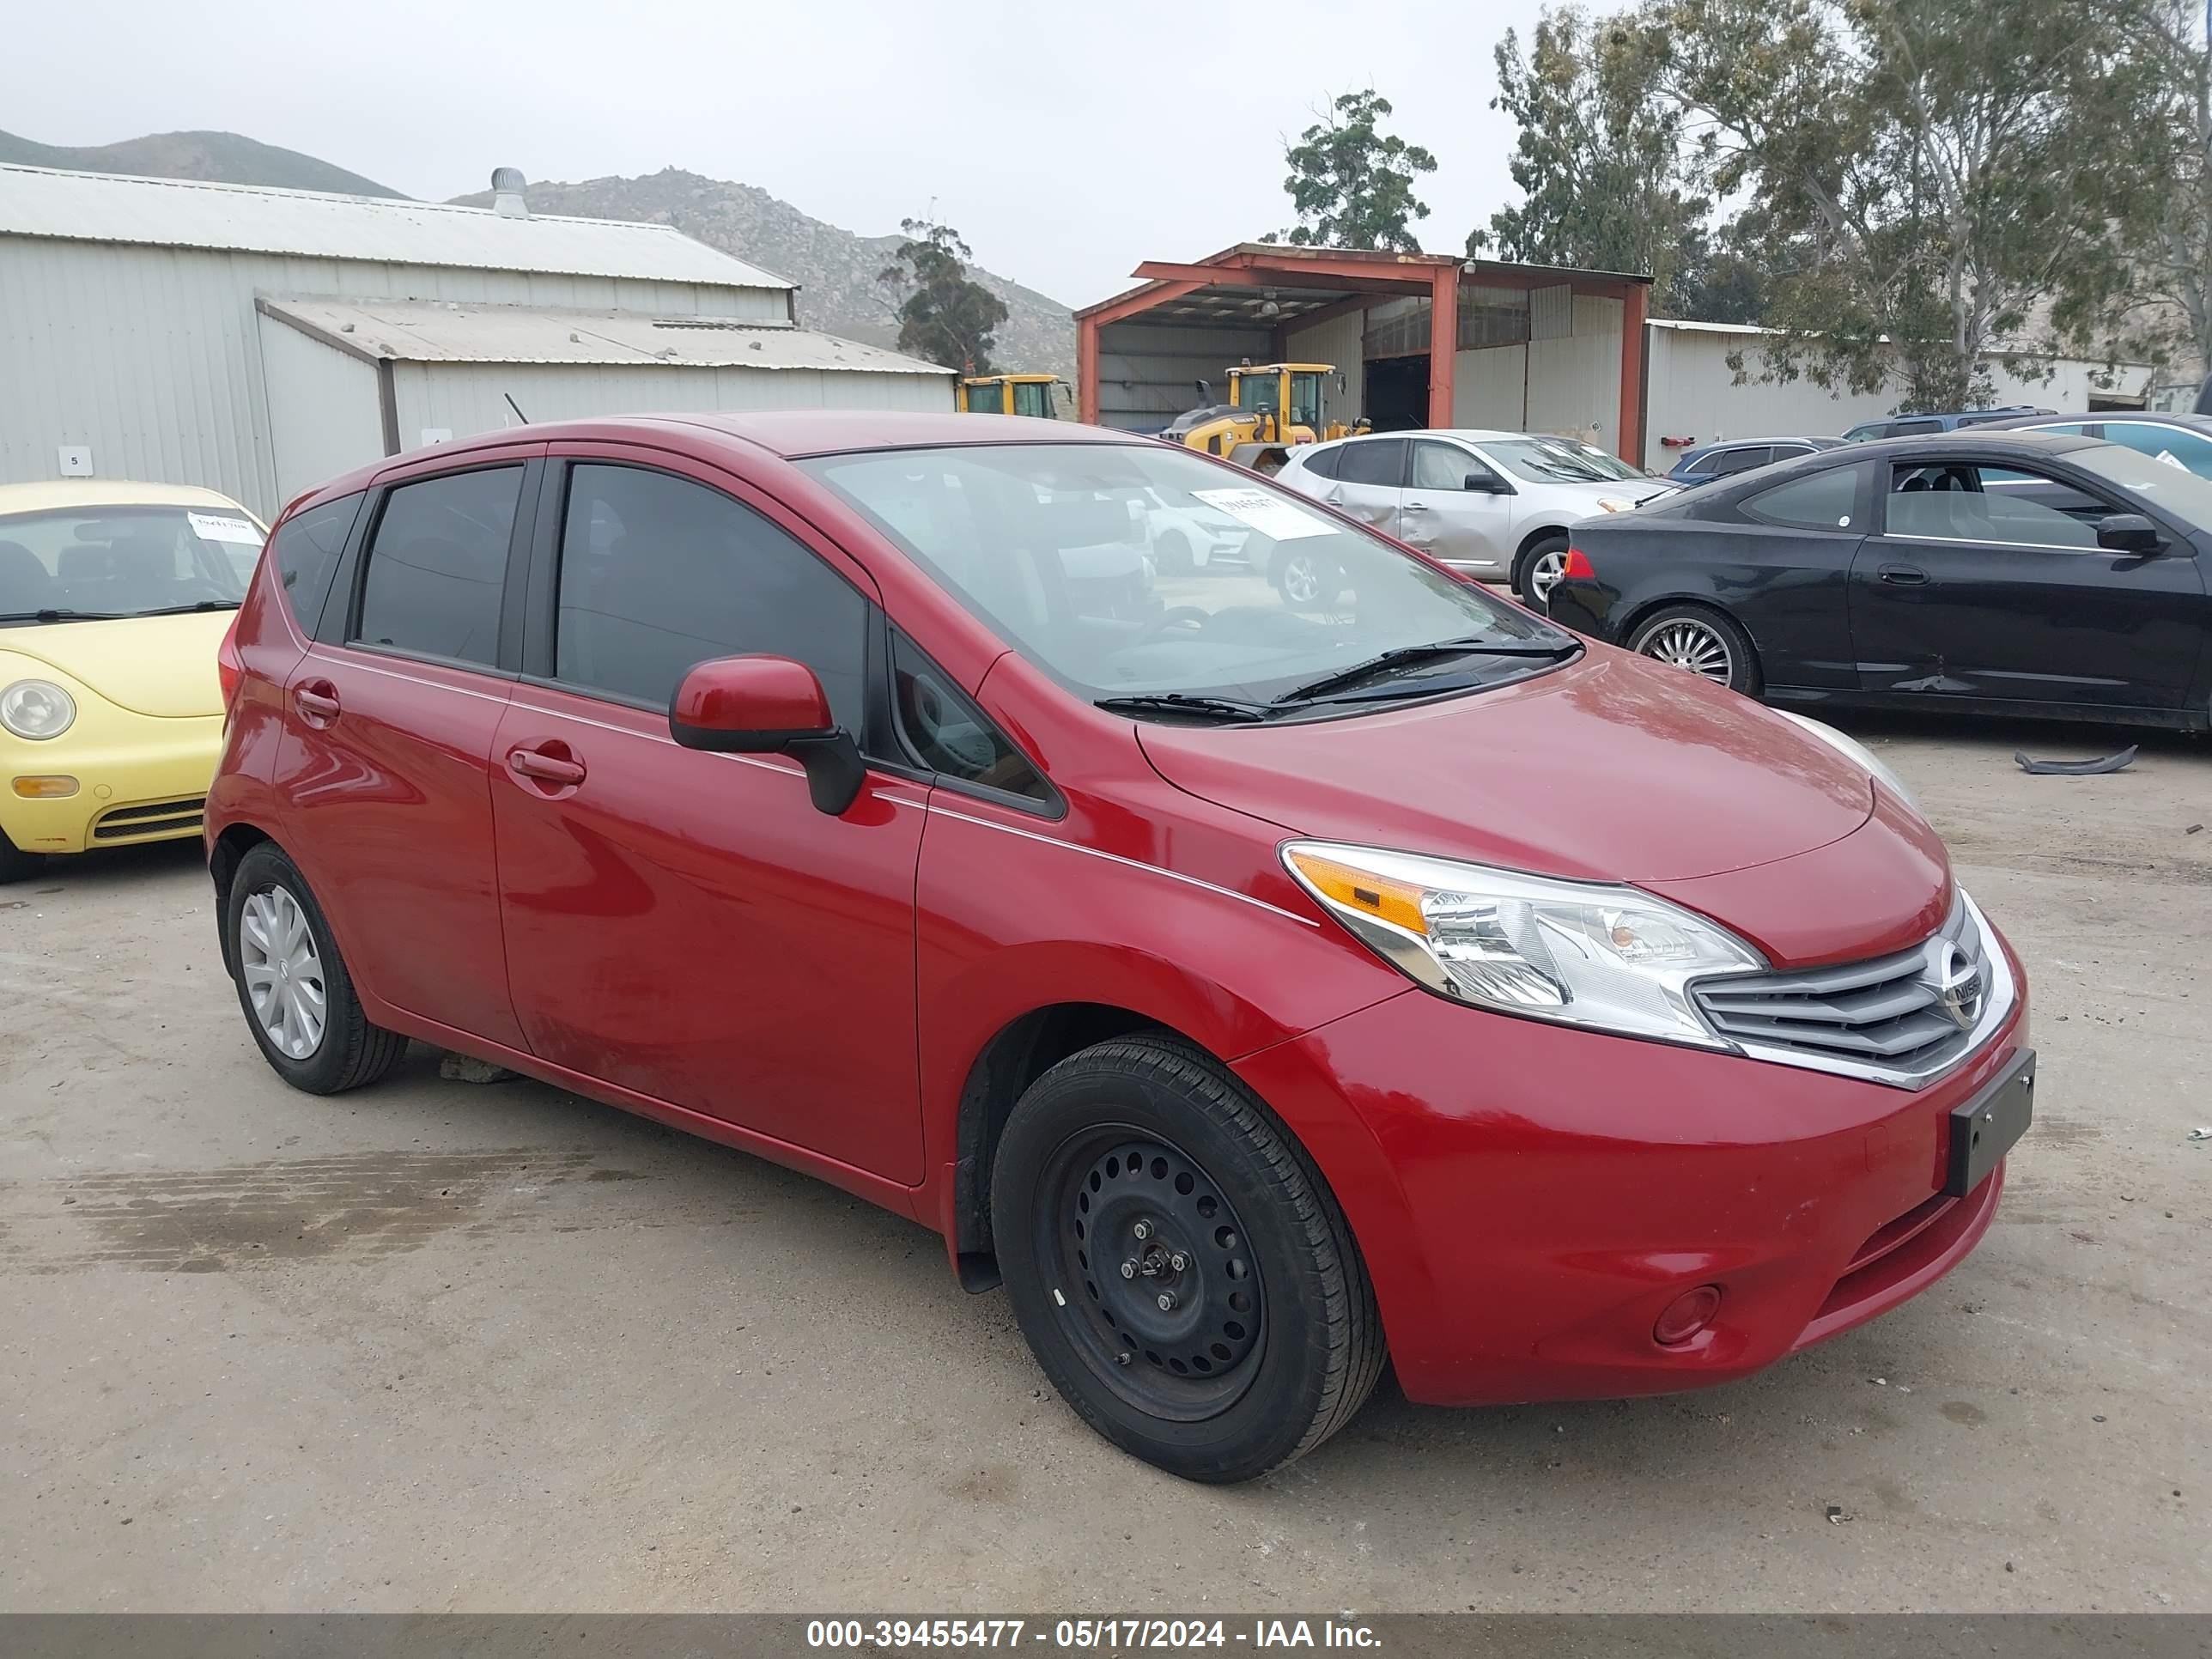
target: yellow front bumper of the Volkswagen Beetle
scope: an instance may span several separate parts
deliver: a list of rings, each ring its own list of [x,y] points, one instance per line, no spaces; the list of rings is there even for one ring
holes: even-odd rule
[[[0,830],[22,852],[197,836],[221,754],[221,714],[102,719],[51,743],[0,732]],[[15,794],[20,776],[71,776],[77,792],[24,801]]]

